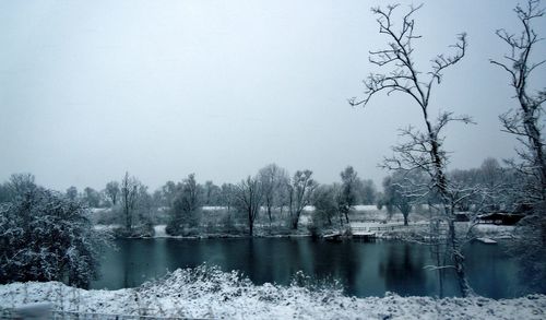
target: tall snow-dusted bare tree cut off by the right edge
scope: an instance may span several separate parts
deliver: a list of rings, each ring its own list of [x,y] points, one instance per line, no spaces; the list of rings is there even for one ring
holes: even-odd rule
[[[524,273],[531,275],[530,283],[539,284],[545,289],[546,280],[546,159],[544,156],[544,118],[542,105],[546,102],[546,88],[533,92],[532,75],[546,60],[534,61],[532,52],[542,38],[533,24],[544,16],[539,0],[527,0],[526,5],[514,9],[522,31],[519,34],[498,29],[497,36],[508,45],[508,54],[502,60],[490,60],[505,70],[514,90],[518,107],[499,118],[503,130],[514,134],[523,149],[518,150],[521,162],[510,162],[522,177],[524,185],[512,191],[518,193],[520,206],[531,208],[517,230],[517,249],[523,261]]]

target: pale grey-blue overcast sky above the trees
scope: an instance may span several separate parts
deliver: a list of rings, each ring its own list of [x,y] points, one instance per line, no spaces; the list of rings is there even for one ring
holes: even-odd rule
[[[370,7],[385,3],[0,0],[0,181],[32,173],[57,190],[103,189],[129,171],[155,189],[190,173],[237,182],[276,163],[325,183],[352,165],[380,183],[397,129],[423,121],[400,94],[347,103],[378,71],[368,52],[388,39]],[[496,29],[520,31],[515,3],[424,1],[415,15],[424,72],[468,34],[466,56],[431,98],[432,115],[477,122],[448,129],[450,168],[514,156],[498,116],[515,100],[488,61],[507,52]],[[545,20],[535,25],[543,37]],[[546,57],[545,42],[533,55]],[[532,83],[546,83],[546,67]]]

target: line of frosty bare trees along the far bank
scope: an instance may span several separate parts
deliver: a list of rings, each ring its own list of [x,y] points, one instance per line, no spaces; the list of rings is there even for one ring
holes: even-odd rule
[[[518,183],[517,175],[501,167],[495,158],[485,159],[479,168],[455,169],[448,176],[460,188],[489,188],[485,202],[477,194],[467,197],[456,203],[458,211],[514,212],[524,208],[513,208],[517,202],[505,195],[509,185]],[[34,176],[12,175],[10,181],[0,185],[0,202],[9,202],[13,194],[21,192],[10,187],[21,185],[14,182],[17,179],[34,181]],[[190,174],[179,182],[167,181],[150,192],[136,177],[126,173],[119,181],[107,182],[100,191],[87,187],[78,192],[75,187],[70,187],[62,195],[92,209],[95,223],[120,225],[117,236],[153,236],[153,227],[157,224],[167,224],[169,235],[199,235],[205,233],[199,227],[210,221],[207,216],[214,211],[225,213],[218,224],[227,227],[245,223],[247,233],[253,235],[258,218],[265,222],[270,232],[297,230],[301,214],[310,208],[309,223],[313,230],[345,229],[349,227],[351,213],[357,204],[375,204],[379,210],[384,206],[389,217],[400,212],[407,225],[415,208],[440,202],[432,195],[419,195],[422,186],[428,182],[423,171],[410,175],[397,170],[383,179],[381,191],[372,180],[361,179],[352,166],[347,166],[340,173],[339,182],[321,185],[309,169],[289,176],[285,168],[270,164],[238,183],[217,186],[211,180],[200,183],[195,175]],[[479,206],[476,205],[478,201],[483,202]]]

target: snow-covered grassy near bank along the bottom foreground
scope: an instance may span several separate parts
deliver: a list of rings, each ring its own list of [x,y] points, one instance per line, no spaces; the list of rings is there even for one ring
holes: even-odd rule
[[[177,270],[138,288],[84,291],[58,282],[0,286],[0,306],[49,301],[63,311],[214,319],[546,319],[546,296],[494,300],[484,297],[355,298],[336,288],[253,285],[238,273],[202,265]]]

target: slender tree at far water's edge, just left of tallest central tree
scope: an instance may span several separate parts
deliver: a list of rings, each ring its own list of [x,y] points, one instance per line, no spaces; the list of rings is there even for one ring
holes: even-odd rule
[[[260,180],[256,177],[248,176],[247,179],[240,181],[236,186],[235,197],[239,210],[247,214],[249,235],[252,236],[254,232],[254,221],[258,217],[263,200]]]

